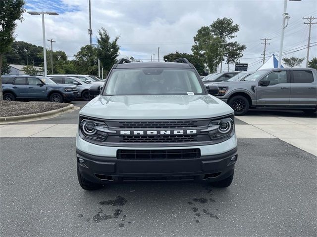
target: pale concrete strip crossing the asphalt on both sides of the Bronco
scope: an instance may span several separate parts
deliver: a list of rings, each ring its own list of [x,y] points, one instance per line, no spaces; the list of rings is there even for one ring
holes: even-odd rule
[[[248,124],[236,124],[238,138],[280,139],[317,156],[317,118],[236,117]],[[1,138],[75,137],[77,124],[0,125]]]

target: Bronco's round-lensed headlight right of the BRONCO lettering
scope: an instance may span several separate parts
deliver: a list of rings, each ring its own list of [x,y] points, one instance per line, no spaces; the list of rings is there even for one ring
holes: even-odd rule
[[[232,118],[222,118],[209,123],[208,129],[211,140],[232,136],[234,132],[234,122]]]

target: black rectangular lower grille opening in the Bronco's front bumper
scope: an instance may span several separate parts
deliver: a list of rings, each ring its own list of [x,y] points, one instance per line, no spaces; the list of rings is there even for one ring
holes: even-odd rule
[[[117,150],[117,159],[195,159],[200,158],[200,149],[175,150]]]

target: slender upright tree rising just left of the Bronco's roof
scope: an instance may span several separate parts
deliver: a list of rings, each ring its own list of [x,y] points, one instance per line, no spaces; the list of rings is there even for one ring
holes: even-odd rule
[[[104,67],[104,74],[106,75],[110,71],[113,64],[116,63],[117,57],[119,56],[120,46],[117,44],[119,37],[117,36],[114,38],[114,40],[110,41],[110,37],[104,28],[99,30],[98,33],[99,38],[97,38],[97,55],[102,66]]]

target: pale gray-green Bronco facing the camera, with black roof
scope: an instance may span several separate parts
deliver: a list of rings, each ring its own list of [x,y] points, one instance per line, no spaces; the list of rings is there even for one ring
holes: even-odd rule
[[[77,177],[85,190],[124,181],[196,180],[228,187],[237,160],[233,110],[195,67],[114,64],[79,112]],[[210,94],[209,94],[210,93]]]

